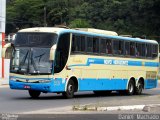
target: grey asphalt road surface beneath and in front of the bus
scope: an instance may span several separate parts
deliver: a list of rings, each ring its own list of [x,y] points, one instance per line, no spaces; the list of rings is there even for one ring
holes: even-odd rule
[[[156,100],[160,95],[160,83],[158,88],[145,90],[142,95],[122,96],[118,93],[112,93],[108,96],[95,96],[93,92],[76,93],[73,99],[64,99],[57,94],[41,94],[39,99],[31,99],[28,91],[11,90],[7,87],[0,87],[0,113],[24,113],[29,111],[37,111],[43,109],[60,108],[81,104],[102,104],[108,103],[111,106],[131,104],[128,101],[133,101],[135,98],[139,101],[132,104],[141,104],[146,102],[149,104],[159,103]],[[154,100],[153,100],[154,99]],[[148,101],[149,100],[149,101]],[[121,101],[121,102],[119,102]],[[127,101],[127,102],[126,102]]]

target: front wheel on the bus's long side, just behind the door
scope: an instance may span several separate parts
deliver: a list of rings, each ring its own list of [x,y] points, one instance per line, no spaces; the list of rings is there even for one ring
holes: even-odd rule
[[[73,98],[74,97],[74,92],[75,92],[75,84],[73,80],[69,80],[68,84],[67,84],[67,89],[66,92],[62,93],[62,95],[65,98]]]

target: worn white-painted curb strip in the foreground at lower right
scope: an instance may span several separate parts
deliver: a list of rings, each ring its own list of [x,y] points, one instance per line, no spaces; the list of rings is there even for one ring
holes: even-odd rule
[[[113,106],[113,107],[95,107],[95,106],[74,106],[75,111],[123,111],[123,110],[141,110],[144,112],[160,111],[160,104],[150,105],[128,105],[128,106]]]

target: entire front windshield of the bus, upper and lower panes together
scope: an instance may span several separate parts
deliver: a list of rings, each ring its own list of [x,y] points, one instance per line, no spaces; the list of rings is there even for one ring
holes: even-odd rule
[[[57,35],[53,33],[18,33],[10,72],[51,74],[53,63],[49,60],[50,49],[56,42]]]

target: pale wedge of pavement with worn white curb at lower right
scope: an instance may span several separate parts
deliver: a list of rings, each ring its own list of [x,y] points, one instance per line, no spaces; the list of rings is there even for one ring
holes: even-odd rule
[[[86,105],[73,105],[60,108],[41,109],[25,112],[23,114],[117,114],[117,113],[139,113],[160,114],[160,95],[135,96],[129,100],[111,100]]]

